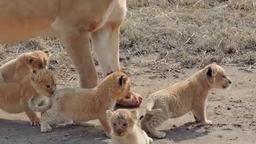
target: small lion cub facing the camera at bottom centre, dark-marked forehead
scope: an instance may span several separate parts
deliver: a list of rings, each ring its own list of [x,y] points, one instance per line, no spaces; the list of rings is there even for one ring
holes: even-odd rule
[[[138,126],[139,111],[118,109],[106,111],[112,128],[112,139],[114,144],[149,144],[153,139]]]

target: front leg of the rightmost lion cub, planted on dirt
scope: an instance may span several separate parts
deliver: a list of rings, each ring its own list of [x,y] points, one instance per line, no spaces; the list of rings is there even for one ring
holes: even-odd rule
[[[201,122],[203,125],[210,125],[212,122],[206,118],[206,113],[205,113],[205,105],[201,106],[196,106],[193,109],[193,114],[195,114],[198,118],[198,120]]]

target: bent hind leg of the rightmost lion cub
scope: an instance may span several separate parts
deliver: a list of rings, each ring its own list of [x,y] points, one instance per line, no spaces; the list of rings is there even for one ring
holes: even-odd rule
[[[153,117],[147,123],[147,128],[149,133],[155,138],[164,138],[166,135],[164,132],[159,132],[157,130],[157,127],[162,125],[163,122],[167,120],[165,115],[166,114],[163,114],[163,113],[153,115]]]

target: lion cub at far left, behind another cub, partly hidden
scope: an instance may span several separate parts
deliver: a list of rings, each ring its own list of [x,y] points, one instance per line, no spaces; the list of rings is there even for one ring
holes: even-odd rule
[[[0,82],[20,82],[29,74],[29,70],[47,68],[49,51],[33,51],[22,53],[18,58],[6,62],[0,67]]]

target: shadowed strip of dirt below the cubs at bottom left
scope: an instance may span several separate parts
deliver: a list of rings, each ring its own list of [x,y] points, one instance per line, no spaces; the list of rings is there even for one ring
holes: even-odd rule
[[[0,118],[0,143],[99,143],[111,141],[101,125],[85,127],[74,124],[51,125],[52,132],[41,132],[40,126],[30,126],[28,121]]]

